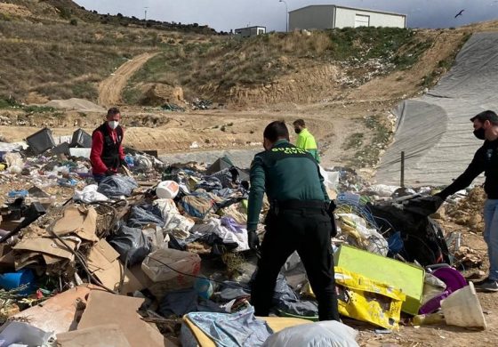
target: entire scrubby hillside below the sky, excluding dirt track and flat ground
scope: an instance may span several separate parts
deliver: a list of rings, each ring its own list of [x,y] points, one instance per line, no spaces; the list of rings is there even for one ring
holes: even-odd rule
[[[456,37],[454,49],[428,67],[414,90],[451,66],[468,35],[345,28],[240,39],[195,23],[89,12],[68,0],[11,0],[0,4],[0,63],[10,68],[0,79],[0,99],[96,102],[100,82],[125,61],[154,52],[127,82],[122,103],[158,106],[208,99],[254,106],[338,100],[375,77],[411,74],[442,35]]]

